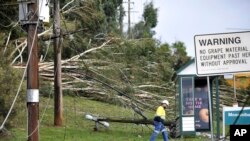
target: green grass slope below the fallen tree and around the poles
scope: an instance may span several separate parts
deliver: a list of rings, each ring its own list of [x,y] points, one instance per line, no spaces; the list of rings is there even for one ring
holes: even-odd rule
[[[136,118],[131,109],[119,107],[111,104],[92,101],[82,97],[64,97],[64,124],[62,127],[54,127],[53,99],[40,97],[40,141],[147,141],[150,138],[153,127],[135,124],[110,123],[108,129],[101,127],[99,131],[94,131],[95,123],[86,120],[87,113],[99,115],[101,117],[116,118]],[[10,136],[2,138],[4,141],[26,141],[27,140],[27,119],[26,104],[24,110],[19,111],[14,120],[15,125],[10,130]],[[148,117],[153,117],[154,112],[145,111]],[[138,117],[137,117],[138,118]],[[158,137],[161,141],[162,137]],[[173,140],[173,139],[172,139]],[[198,141],[200,138],[175,139]],[[174,140],[173,140],[174,141]]]

